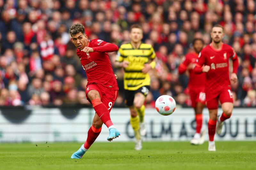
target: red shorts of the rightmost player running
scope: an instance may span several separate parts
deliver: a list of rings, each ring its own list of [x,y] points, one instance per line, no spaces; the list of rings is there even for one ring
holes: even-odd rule
[[[218,104],[231,102],[233,103],[233,94],[230,87],[224,88],[216,93],[206,93],[206,106],[209,110],[218,109]]]

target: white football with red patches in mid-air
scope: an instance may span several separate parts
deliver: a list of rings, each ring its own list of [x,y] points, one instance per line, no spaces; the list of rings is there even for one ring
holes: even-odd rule
[[[162,95],[156,100],[155,107],[159,114],[171,115],[176,108],[176,102],[171,96]]]

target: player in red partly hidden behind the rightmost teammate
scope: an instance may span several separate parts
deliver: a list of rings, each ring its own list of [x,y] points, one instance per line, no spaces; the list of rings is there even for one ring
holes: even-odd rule
[[[203,116],[202,112],[205,105],[205,93],[204,93],[204,84],[205,84],[205,73],[195,74],[193,70],[193,64],[196,63],[198,59],[198,54],[204,47],[204,41],[202,39],[194,39],[193,40],[193,48],[194,52],[188,53],[183,58],[182,63],[178,68],[179,74],[183,74],[186,70],[189,71],[189,82],[188,89],[190,99],[192,101],[192,107],[195,110],[196,117],[196,133],[193,139],[190,141],[191,144],[203,144],[204,143],[204,135],[205,130],[201,132],[202,124],[203,124]],[[198,83],[200,82],[200,83]]]

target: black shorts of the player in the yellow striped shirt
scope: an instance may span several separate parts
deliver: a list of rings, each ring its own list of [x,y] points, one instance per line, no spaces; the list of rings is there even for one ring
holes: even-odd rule
[[[150,89],[149,85],[145,85],[140,87],[138,90],[124,90],[124,95],[125,95],[124,101],[126,106],[130,107],[133,105],[134,95],[138,92],[143,94],[146,97],[148,95],[149,89]]]

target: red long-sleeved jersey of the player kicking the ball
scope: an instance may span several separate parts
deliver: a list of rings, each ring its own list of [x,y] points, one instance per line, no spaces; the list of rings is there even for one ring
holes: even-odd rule
[[[91,47],[93,52],[85,53],[78,49],[76,51],[87,75],[87,84],[97,83],[109,88],[109,90],[118,90],[117,81],[108,56],[108,52],[117,51],[118,47],[115,44],[99,39],[89,40],[87,47]]]

